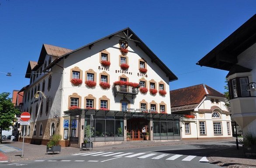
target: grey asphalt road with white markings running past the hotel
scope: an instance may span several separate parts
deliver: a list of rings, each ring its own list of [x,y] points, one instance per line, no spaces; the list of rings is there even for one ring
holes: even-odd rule
[[[144,147],[136,149],[92,151],[38,160],[8,162],[0,168],[218,168],[201,162],[212,152],[225,150],[228,142]]]

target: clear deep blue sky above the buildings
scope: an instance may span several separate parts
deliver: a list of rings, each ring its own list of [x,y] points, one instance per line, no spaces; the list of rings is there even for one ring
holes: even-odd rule
[[[224,92],[228,72],[196,62],[255,13],[256,0],[0,0],[0,93],[29,84],[43,43],[76,49],[126,27],[179,78],[171,90]]]

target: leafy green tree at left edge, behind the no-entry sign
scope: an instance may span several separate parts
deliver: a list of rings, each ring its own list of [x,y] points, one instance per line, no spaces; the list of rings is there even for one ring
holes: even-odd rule
[[[10,93],[7,92],[0,94],[0,136],[2,136],[3,130],[10,130],[10,126],[13,125],[16,119],[16,114],[20,113],[20,111],[14,107],[11,98],[8,97],[9,95]],[[2,138],[0,138],[0,144],[1,143]]]

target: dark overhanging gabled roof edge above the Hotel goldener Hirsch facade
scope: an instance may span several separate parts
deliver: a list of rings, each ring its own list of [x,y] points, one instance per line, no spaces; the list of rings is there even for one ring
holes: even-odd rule
[[[121,37],[121,36],[118,36],[117,34],[119,33],[123,33],[125,35],[125,37]],[[57,58],[56,60],[54,60],[48,67],[46,67],[44,69],[44,71],[50,69],[51,67],[53,67],[55,64],[57,64],[60,60],[62,60],[63,58],[67,58],[69,57],[70,54],[78,51],[78,50],[81,50],[85,47],[89,47],[91,48],[93,45],[95,45],[97,42],[101,41],[101,40],[104,40],[104,39],[111,39],[113,36],[117,36],[117,37],[120,37],[122,39],[125,39],[125,40],[131,40],[133,42],[136,43],[136,45],[138,47],[140,47],[144,52],[145,54],[147,54],[150,58],[151,58],[151,61],[154,62],[155,64],[157,64],[165,73],[166,75],[169,77],[169,81],[175,81],[177,80],[178,78],[176,77],[175,74],[173,74],[173,72],[156,56],[156,54],[154,54],[152,52],[152,50],[149,49],[149,47],[146,46],[146,44],[143,43],[142,40],[140,40],[138,38],[138,36],[129,28],[125,28],[123,30],[120,30],[114,34],[110,34],[104,38],[101,38],[99,40],[96,40],[92,43],[89,43],[89,44],[86,44],[85,46],[83,47],[80,47],[80,48],[77,48],[76,50],[73,50],[73,51],[70,51],[66,54],[63,54],[61,57]]]

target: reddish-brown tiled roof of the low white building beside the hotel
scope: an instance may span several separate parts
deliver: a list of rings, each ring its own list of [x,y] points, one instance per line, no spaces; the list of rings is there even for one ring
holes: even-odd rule
[[[223,94],[207,86],[206,84],[184,87],[170,91],[171,110],[193,110],[205,96],[225,98]]]

